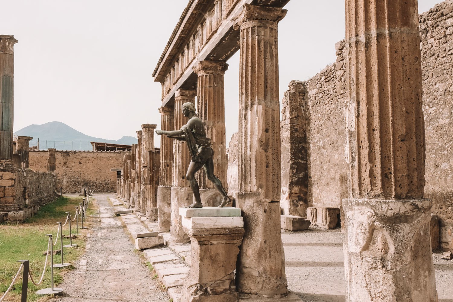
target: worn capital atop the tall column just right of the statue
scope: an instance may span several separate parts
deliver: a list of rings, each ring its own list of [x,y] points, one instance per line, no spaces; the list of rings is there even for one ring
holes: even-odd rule
[[[282,10],[275,7],[265,7],[251,4],[244,4],[241,14],[233,19],[233,27],[239,30],[242,24],[248,21],[266,20],[279,23],[286,16],[288,10]]]

